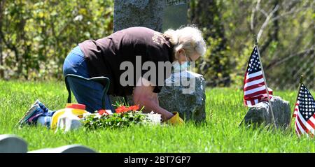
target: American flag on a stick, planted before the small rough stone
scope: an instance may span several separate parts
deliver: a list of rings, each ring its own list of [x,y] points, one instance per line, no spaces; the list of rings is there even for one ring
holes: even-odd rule
[[[272,98],[272,89],[268,87],[268,91],[270,98]],[[251,52],[244,78],[244,104],[251,107],[261,101],[268,101],[268,99],[258,49],[255,46],[253,52]]]

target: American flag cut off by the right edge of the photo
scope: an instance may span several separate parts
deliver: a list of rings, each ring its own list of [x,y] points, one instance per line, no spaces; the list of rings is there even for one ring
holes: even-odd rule
[[[295,131],[298,136],[301,134],[311,134],[311,136],[314,136],[315,101],[307,87],[303,84],[297,96],[293,117],[295,117]]]

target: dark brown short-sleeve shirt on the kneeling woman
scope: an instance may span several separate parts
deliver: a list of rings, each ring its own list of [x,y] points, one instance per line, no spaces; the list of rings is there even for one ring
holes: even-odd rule
[[[105,76],[111,80],[108,94],[126,96],[133,92],[137,83],[136,66],[141,66],[146,61],[153,61],[158,73],[158,61],[172,63],[172,45],[169,38],[162,33],[146,27],[131,27],[116,31],[110,36],[94,40],[87,40],[78,44],[85,55],[87,70],[90,77]],[[141,57],[141,64],[136,64],[136,57]],[[120,75],[125,70],[120,70],[123,61],[130,61],[134,66],[134,85],[123,86],[120,84]],[[143,75],[146,70],[142,70]],[[165,80],[168,76],[163,75]],[[158,81],[158,74],[156,80]],[[161,86],[155,86],[153,92],[160,92]]]

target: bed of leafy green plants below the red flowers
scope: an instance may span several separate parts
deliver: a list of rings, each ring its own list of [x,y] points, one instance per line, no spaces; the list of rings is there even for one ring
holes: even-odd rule
[[[82,123],[86,129],[116,129],[132,125],[144,125],[148,123],[146,115],[141,111],[113,113],[112,115],[87,115],[83,117]]]

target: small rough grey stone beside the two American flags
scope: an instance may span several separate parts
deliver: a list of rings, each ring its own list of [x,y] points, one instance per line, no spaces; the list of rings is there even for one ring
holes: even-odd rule
[[[290,124],[290,105],[279,96],[271,99],[272,110],[277,127],[286,128]],[[250,108],[244,117],[246,124],[273,124],[272,112],[268,102],[260,102]]]

